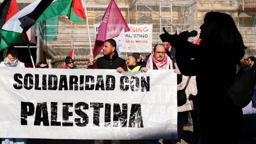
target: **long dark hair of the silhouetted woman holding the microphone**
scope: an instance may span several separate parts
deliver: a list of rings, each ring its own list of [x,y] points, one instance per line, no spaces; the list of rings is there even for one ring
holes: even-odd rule
[[[208,29],[204,37],[206,41],[218,44],[222,52],[232,55],[236,60],[244,56],[246,46],[230,15],[208,12],[204,15],[204,26]]]

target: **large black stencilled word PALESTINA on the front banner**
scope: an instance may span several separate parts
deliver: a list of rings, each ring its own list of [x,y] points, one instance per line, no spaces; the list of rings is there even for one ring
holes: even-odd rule
[[[28,116],[33,116],[35,114],[34,126],[76,126],[84,127],[89,123],[88,115],[82,110],[88,110],[89,104],[85,102],[78,102],[74,105],[74,111],[79,118],[74,118],[74,122],[69,120],[69,117],[73,116],[73,112],[69,108],[73,107],[73,103],[62,103],[62,122],[57,117],[58,113],[58,103],[51,102],[50,110],[47,108],[46,102],[38,102],[35,106],[32,102],[21,102],[21,112],[20,112],[20,123],[21,125],[31,125],[28,124]],[[93,108],[93,125],[100,126],[100,109],[103,108],[103,103],[91,102],[90,108]],[[122,111],[120,105],[114,103],[113,105],[113,127],[138,127],[143,128],[142,112],[140,104],[132,104],[130,108],[130,118],[127,120],[128,107],[127,104],[122,104]],[[48,111],[51,112],[48,115]],[[50,124],[49,124],[50,117]],[[120,125],[118,124],[120,122]],[[128,124],[127,124],[128,122]],[[105,104],[105,114],[104,114],[104,127],[111,127],[111,104]]]

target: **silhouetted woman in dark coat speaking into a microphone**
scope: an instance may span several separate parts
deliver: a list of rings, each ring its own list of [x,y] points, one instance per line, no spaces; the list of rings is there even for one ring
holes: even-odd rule
[[[187,41],[188,32],[170,35],[164,30],[160,38],[176,48],[180,72],[196,76],[199,144],[237,144],[242,140],[242,108],[232,103],[226,88],[234,82],[236,64],[243,58],[246,46],[228,14],[206,13],[200,29],[200,45]]]

